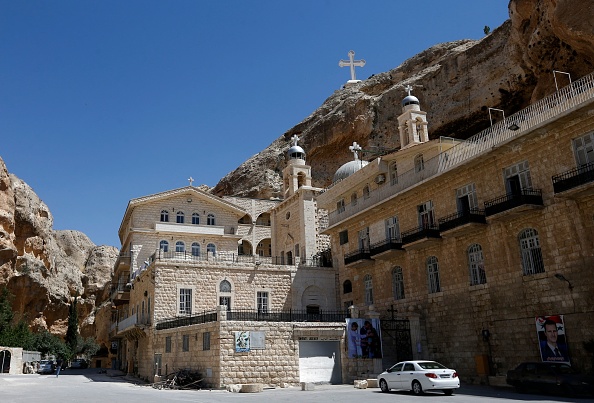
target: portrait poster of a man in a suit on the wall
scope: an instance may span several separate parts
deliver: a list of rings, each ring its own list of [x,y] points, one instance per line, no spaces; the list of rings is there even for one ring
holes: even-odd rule
[[[536,333],[540,346],[540,356],[543,361],[566,362],[569,364],[563,315],[537,316]]]

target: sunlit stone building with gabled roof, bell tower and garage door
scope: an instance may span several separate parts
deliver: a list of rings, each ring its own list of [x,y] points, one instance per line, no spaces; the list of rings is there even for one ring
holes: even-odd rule
[[[343,382],[327,216],[295,144],[286,198],[186,186],[133,199],[113,276],[112,367],[152,380],[187,368],[204,385]]]

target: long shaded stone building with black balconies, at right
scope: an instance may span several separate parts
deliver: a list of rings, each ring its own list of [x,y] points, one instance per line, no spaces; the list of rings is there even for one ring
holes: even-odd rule
[[[410,91],[402,106],[402,148],[355,154],[317,197],[341,304],[383,319],[384,367],[434,359],[485,382],[541,360],[539,318],[556,317],[591,369],[594,77],[464,141],[429,140]]]

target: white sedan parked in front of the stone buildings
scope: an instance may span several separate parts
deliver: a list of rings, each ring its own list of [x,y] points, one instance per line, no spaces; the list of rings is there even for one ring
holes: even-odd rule
[[[460,387],[460,378],[453,369],[435,361],[403,361],[377,376],[382,392],[390,389],[412,390],[415,395],[425,390],[442,390],[447,396]]]

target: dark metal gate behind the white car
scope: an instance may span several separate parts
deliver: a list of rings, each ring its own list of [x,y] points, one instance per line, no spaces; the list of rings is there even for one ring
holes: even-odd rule
[[[412,360],[410,322],[408,319],[380,319],[384,367]]]

